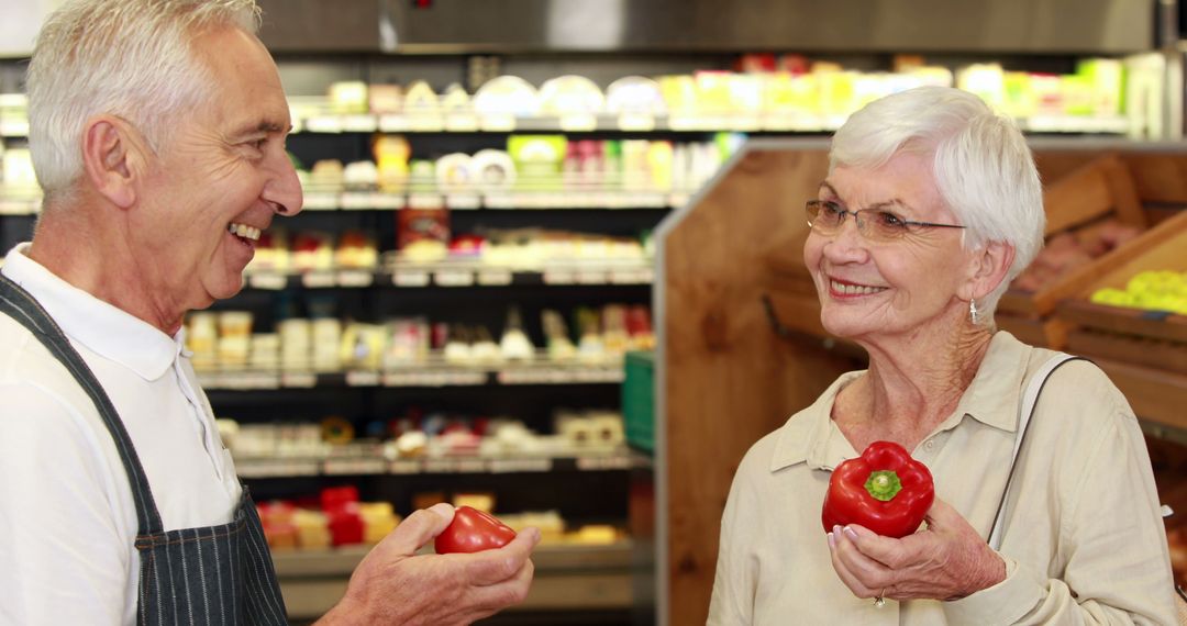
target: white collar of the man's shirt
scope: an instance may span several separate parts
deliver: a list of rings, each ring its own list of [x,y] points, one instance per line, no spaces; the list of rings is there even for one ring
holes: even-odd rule
[[[28,292],[66,336],[146,381],[160,378],[180,353],[184,336],[151,324],[62,280],[33,261],[27,243],[5,257],[4,275]]]

